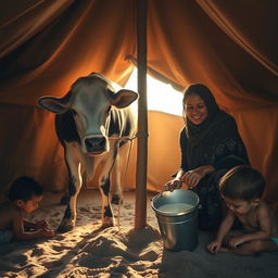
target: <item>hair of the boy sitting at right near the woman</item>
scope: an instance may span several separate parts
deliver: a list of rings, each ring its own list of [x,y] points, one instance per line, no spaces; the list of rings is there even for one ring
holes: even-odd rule
[[[222,177],[219,187],[224,198],[250,201],[262,198],[265,179],[258,170],[248,165],[240,165]]]

